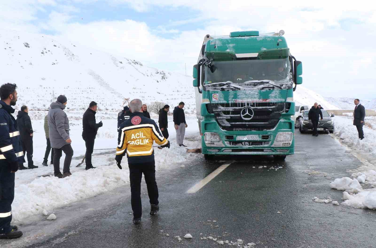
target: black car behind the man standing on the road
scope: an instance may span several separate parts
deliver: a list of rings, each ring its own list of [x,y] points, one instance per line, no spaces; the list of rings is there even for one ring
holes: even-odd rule
[[[299,119],[299,131],[303,134],[308,130],[313,130],[311,120],[308,120],[309,110],[305,110]],[[334,117],[334,114],[329,115],[326,110],[321,110],[323,113],[323,119],[318,120],[317,131],[329,131],[331,134],[334,131],[334,120],[331,117]]]

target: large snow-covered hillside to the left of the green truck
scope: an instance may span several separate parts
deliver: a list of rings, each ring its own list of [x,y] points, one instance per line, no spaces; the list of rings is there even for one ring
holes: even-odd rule
[[[147,51],[145,51],[147,52]],[[0,82],[16,83],[16,107],[48,108],[64,94],[72,109],[96,101],[102,110],[122,108],[124,98],[195,108],[192,77],[144,66],[141,62],[57,41],[53,36],[0,30]]]

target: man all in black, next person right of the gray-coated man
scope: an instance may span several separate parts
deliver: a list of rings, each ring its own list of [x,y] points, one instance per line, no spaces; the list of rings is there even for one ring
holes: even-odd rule
[[[97,103],[92,101],[89,104],[89,108],[85,111],[82,117],[82,138],[85,140],[85,146],[86,146],[86,168],[85,170],[93,169],[96,167],[93,167],[91,164],[91,154],[93,153],[94,149],[94,140],[97,135],[98,128],[103,126],[102,121],[99,123],[96,123],[95,120],[95,114],[97,113]]]

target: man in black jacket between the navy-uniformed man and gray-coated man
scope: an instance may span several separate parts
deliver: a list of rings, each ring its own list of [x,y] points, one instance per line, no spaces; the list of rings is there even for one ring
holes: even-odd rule
[[[21,110],[17,114],[17,125],[20,130],[20,136],[22,141],[23,153],[27,155],[27,168],[34,169],[38,166],[33,162],[33,127],[31,126],[31,120],[29,116],[29,108],[22,106]],[[19,163],[19,169],[23,170],[26,167],[22,163]]]

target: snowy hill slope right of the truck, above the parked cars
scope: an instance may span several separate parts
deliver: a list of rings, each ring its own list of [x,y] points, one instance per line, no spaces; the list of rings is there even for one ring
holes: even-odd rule
[[[318,104],[321,104],[324,109],[341,109],[340,106],[327,101],[323,96],[319,95],[313,90],[305,88],[302,85],[298,85],[296,87],[296,90],[294,92],[294,101],[296,105],[308,105],[308,107],[311,107],[315,102],[317,102]]]

